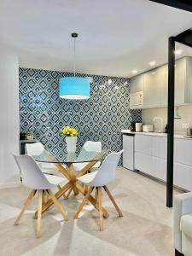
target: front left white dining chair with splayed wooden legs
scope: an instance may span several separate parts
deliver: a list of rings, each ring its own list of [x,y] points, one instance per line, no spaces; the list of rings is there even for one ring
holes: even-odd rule
[[[32,159],[30,155],[16,155],[14,154],[17,166],[22,174],[22,183],[32,189],[31,193],[28,195],[24,207],[20,211],[19,216],[15,219],[15,225],[19,224],[20,218],[26,211],[26,208],[32,201],[33,196],[38,191],[38,222],[37,222],[37,238],[41,237],[41,214],[43,206],[43,197],[48,194],[51,200],[54,202],[58,211],[61,212],[62,217],[67,220],[67,213],[61,207],[61,204],[55,198],[55,195],[50,189],[55,188],[58,184],[64,182],[63,177],[57,177],[54,175],[46,175],[41,172],[38,164]]]

